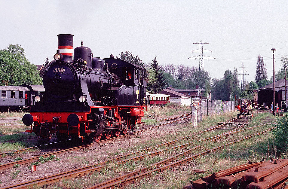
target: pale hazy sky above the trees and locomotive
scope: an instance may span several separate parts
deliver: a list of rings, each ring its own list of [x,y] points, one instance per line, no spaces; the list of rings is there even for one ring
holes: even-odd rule
[[[143,62],[199,67],[203,41],[204,70],[220,79],[237,68],[255,81],[258,56],[263,56],[268,78],[281,56],[288,55],[288,1],[0,1],[0,49],[21,45],[32,64],[51,61],[57,35],[74,35],[73,46],[92,49],[94,57],[116,57],[130,50]],[[204,56],[204,57],[205,57]],[[239,75],[241,81],[241,75]]]

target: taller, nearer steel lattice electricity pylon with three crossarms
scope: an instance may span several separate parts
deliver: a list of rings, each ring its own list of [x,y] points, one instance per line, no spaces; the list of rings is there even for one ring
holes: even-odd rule
[[[195,59],[199,59],[199,79],[200,79],[200,82],[202,82],[202,89],[205,88],[205,82],[204,82],[204,66],[203,66],[203,58],[214,58],[214,57],[211,57],[211,56],[205,56],[203,55],[203,52],[205,51],[210,51],[212,52],[212,50],[207,50],[207,49],[204,49],[203,50],[203,44],[209,44],[209,43],[205,43],[203,41],[200,41],[200,42],[197,42],[197,43],[193,43],[193,44],[200,44],[200,48],[199,49],[196,49],[196,50],[191,50],[191,52],[199,52],[199,56],[192,56],[192,57],[189,57],[188,59],[190,58],[195,58]],[[203,57],[205,56],[205,57]],[[216,58],[214,58],[216,59]],[[200,85],[200,82],[199,82],[199,85]]]

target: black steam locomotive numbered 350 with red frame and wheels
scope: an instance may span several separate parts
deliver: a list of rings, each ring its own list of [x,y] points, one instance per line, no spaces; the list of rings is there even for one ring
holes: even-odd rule
[[[146,108],[145,69],[115,59],[93,57],[90,48],[74,49],[73,35],[59,34],[55,61],[45,70],[45,92],[36,95],[23,123],[41,139],[94,139],[126,134]],[[34,124],[33,124],[34,123]],[[32,126],[33,124],[33,126]]]

